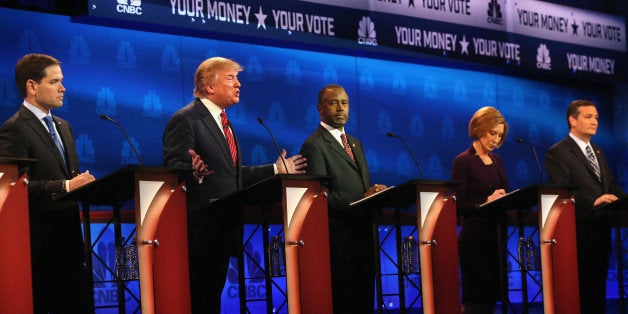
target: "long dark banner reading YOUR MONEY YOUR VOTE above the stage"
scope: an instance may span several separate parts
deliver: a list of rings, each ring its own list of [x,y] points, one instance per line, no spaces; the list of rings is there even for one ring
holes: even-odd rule
[[[538,75],[626,74],[622,17],[534,0],[91,0],[89,15]]]

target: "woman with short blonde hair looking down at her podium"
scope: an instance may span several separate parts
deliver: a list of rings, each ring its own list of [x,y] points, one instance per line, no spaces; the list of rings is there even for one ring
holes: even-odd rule
[[[469,121],[469,148],[454,160],[451,181],[462,228],[458,235],[463,313],[493,313],[501,299],[499,224],[505,213],[486,212],[476,206],[506,194],[508,179],[502,160],[493,152],[504,144],[508,124],[497,109],[483,107]]]

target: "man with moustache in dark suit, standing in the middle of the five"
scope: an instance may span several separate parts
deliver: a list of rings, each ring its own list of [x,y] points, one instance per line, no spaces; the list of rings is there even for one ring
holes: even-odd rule
[[[339,85],[318,94],[321,123],[303,143],[308,174],[332,176],[327,188],[334,313],[373,313],[375,264],[373,213],[349,204],[386,189],[370,177],[362,143],[345,135],[349,97]],[[346,143],[343,144],[343,143]]]

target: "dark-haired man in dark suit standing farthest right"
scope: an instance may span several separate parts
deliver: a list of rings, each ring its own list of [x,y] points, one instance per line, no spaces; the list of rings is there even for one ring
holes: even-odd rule
[[[595,104],[574,100],[567,107],[569,136],[545,155],[550,183],[573,185],[576,205],[576,241],[580,307],[583,314],[604,313],[606,276],[611,253],[611,223],[599,206],[624,193],[615,182],[602,150],[591,143],[598,127]]]

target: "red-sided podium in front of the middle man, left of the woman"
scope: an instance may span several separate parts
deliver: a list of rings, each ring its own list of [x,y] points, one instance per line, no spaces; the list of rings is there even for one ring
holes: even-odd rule
[[[410,180],[351,205],[367,210],[416,204],[423,313],[459,313],[461,309],[456,204],[447,196],[453,185],[446,181]],[[400,304],[405,307],[404,300]]]

